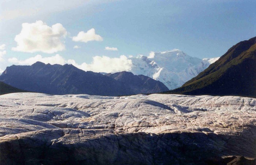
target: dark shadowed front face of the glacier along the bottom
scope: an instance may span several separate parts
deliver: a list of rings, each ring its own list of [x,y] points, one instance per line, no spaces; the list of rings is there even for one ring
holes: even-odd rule
[[[48,131],[48,132],[47,132]],[[255,136],[255,126],[253,129]],[[104,132],[104,131],[103,131]],[[56,142],[71,129],[45,130],[29,138],[0,142],[0,164],[223,164],[221,156],[256,157],[255,139],[214,133],[128,133]],[[86,134],[98,134],[85,130]],[[101,132],[102,133],[102,132]],[[44,139],[45,134],[50,137]],[[40,137],[40,138],[39,138]]]

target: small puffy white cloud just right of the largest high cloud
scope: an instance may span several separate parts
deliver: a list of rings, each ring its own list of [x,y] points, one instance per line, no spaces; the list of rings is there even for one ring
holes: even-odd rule
[[[88,41],[103,41],[103,38],[95,33],[95,29],[92,28],[88,30],[87,32],[80,31],[77,36],[72,38],[75,42],[85,42]]]

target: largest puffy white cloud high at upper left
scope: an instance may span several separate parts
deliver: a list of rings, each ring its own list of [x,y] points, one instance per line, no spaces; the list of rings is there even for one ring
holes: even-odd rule
[[[63,39],[67,36],[66,29],[60,23],[48,26],[41,20],[35,23],[23,23],[20,34],[16,35],[17,46],[14,51],[34,53],[54,53],[65,49]]]

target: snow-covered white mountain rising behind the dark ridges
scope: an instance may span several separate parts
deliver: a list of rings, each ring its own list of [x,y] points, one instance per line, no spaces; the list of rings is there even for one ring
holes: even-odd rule
[[[155,52],[151,57],[153,58],[146,56],[129,58],[133,64],[129,72],[159,80],[169,89],[181,87],[219,59],[218,57],[202,60],[191,57],[178,49]]]

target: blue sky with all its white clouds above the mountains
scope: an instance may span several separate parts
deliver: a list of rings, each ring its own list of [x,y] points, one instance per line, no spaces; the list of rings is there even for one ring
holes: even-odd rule
[[[220,57],[256,36],[255,0],[3,0],[0,72],[36,61],[94,72],[129,70],[129,57],[180,49]]]

